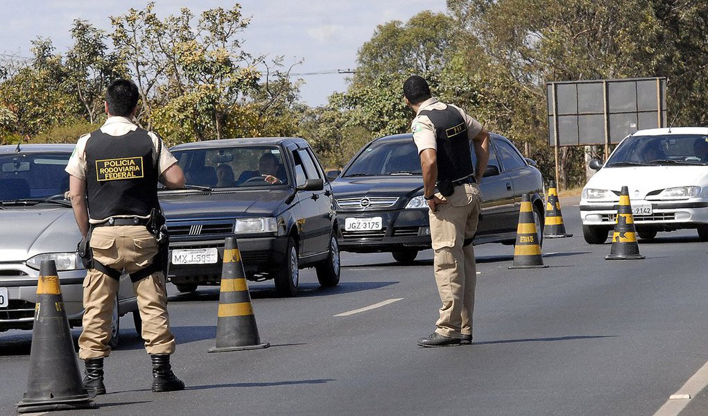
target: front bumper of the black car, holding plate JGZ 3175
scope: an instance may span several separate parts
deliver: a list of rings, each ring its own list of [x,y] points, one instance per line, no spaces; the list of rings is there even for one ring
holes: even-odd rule
[[[347,218],[382,218],[382,229],[346,231]],[[428,208],[387,211],[337,211],[342,241],[339,248],[353,253],[392,253],[430,248]]]

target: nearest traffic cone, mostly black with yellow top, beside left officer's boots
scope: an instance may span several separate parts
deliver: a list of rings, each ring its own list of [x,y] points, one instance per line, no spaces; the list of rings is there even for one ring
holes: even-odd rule
[[[94,407],[81,381],[54,260],[40,265],[28,378],[20,413]]]

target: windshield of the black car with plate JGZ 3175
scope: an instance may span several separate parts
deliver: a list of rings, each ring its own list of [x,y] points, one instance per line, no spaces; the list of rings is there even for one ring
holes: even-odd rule
[[[343,177],[421,175],[421,158],[413,140],[377,140],[366,147]]]

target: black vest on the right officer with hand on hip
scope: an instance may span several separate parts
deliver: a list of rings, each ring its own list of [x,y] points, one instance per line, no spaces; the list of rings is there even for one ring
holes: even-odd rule
[[[438,182],[459,180],[474,175],[472,155],[467,139],[467,123],[456,108],[447,105],[445,110],[423,110],[418,115],[427,115],[435,126],[435,141],[438,144]]]

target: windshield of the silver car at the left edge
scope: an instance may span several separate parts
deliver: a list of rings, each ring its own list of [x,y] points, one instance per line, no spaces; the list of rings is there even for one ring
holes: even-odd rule
[[[0,155],[0,202],[64,199],[69,190],[67,152],[18,152]]]

